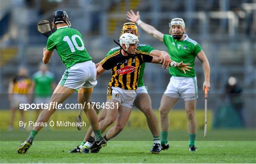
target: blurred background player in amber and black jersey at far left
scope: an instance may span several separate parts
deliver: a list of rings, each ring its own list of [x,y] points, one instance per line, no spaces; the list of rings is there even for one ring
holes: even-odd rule
[[[19,104],[28,103],[28,93],[30,89],[30,79],[27,77],[27,69],[21,67],[18,74],[14,76],[9,82],[9,101],[11,106],[11,118],[9,130],[13,130],[13,122],[16,109],[19,109]],[[20,109],[20,121],[24,122],[24,111]],[[21,130],[22,127],[21,127]]]

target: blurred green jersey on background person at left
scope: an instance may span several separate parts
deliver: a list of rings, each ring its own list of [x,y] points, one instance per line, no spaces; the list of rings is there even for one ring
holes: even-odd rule
[[[36,97],[50,97],[52,94],[52,82],[54,82],[54,74],[46,71],[37,71],[33,74],[33,81],[35,82]]]

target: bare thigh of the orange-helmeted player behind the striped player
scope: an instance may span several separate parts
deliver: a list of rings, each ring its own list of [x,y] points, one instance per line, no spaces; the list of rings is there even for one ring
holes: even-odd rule
[[[152,109],[151,98],[147,93],[139,94],[134,101],[134,105],[143,113]]]

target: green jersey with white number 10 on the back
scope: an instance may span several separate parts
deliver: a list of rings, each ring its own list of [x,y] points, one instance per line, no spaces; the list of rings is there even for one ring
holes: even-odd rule
[[[81,33],[68,26],[59,27],[55,33],[50,35],[46,49],[49,51],[56,49],[67,68],[91,60]]]

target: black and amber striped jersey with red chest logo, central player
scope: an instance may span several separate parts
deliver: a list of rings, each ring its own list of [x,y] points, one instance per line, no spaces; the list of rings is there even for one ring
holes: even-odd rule
[[[129,56],[123,56],[121,50],[119,50],[105,57],[101,66],[106,70],[112,68],[109,87],[136,90],[142,63],[150,63],[152,59],[153,57],[149,53],[140,50],[136,50],[135,55]]]

